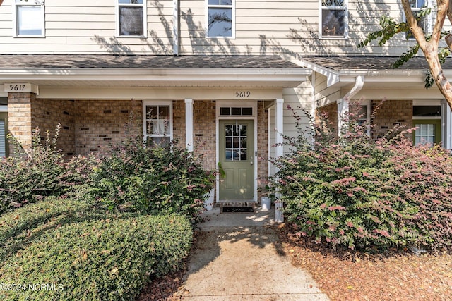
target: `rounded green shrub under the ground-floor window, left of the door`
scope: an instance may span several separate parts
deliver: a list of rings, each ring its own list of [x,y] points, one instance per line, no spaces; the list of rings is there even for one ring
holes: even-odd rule
[[[196,221],[213,180],[213,173],[177,142],[147,146],[131,138],[93,169],[90,195],[110,209],[177,213]]]

